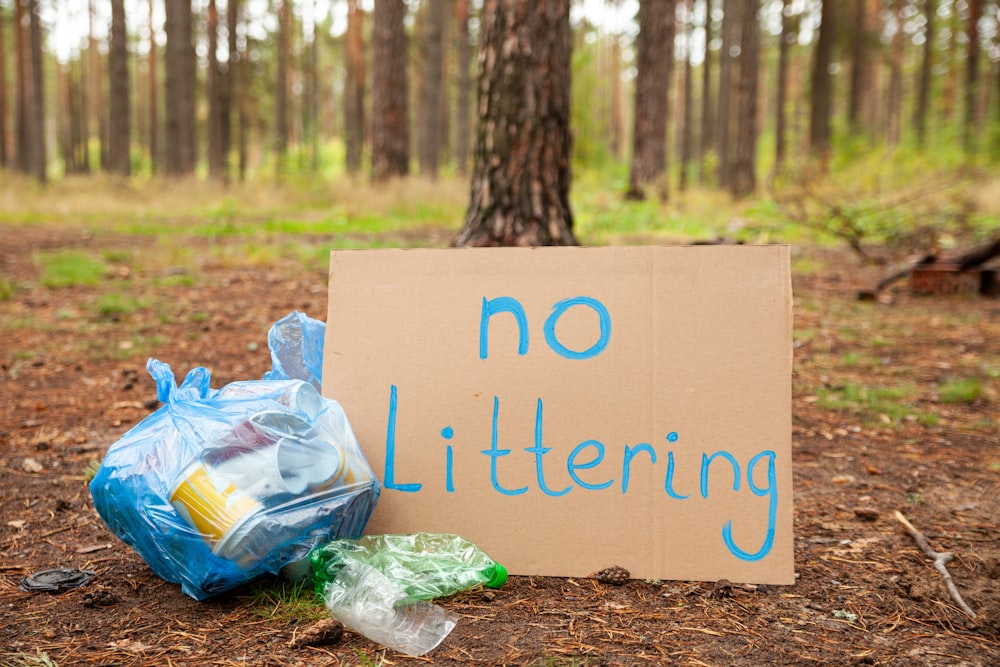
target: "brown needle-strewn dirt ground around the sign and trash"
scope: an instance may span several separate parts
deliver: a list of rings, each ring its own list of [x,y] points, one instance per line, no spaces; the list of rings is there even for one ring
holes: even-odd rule
[[[1000,664],[1000,300],[899,285],[860,302],[880,270],[795,248],[797,583],[512,577],[443,601],[458,626],[408,658],[351,632],[304,642],[315,616],[247,591],[195,602],[109,533],[85,483],[157,406],[147,357],[206,366],[214,387],[259,378],[275,320],[325,317],[324,272],[218,261],[208,245],[225,241],[184,239],[188,268],[176,268],[130,260],[155,256],[144,237],[31,226],[0,239],[0,277],[16,287],[0,300],[2,665]],[[35,253],[64,248],[117,259],[99,286],[42,286]],[[137,306],[107,307],[110,292]],[[956,397],[956,378],[974,390]],[[975,619],[896,510],[954,554]],[[54,567],[97,577],[18,589]]]

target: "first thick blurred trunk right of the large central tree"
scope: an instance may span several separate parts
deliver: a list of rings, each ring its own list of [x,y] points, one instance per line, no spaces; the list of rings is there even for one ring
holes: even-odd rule
[[[662,200],[668,197],[667,122],[670,78],[674,66],[676,0],[642,0],[636,39],[635,126],[628,197],[644,199],[655,184]]]

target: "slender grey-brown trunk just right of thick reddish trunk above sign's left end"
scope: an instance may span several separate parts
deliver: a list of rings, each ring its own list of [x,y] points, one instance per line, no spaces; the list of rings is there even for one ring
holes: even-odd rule
[[[441,90],[444,81],[445,0],[427,0],[423,21],[421,55],[423,71],[420,79],[420,134],[417,159],[420,173],[437,178],[438,156],[441,151],[443,106]]]

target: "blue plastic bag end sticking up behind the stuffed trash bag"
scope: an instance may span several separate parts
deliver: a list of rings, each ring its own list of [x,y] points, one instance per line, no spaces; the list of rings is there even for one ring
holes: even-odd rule
[[[271,326],[267,346],[271,370],[265,380],[304,380],[323,391],[323,343],[326,322],[293,310]]]

